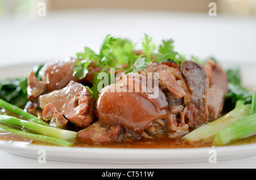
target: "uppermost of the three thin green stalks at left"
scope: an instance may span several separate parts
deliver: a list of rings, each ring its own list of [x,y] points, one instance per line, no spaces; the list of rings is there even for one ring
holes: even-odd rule
[[[0,98],[0,108],[8,110],[9,112],[14,113],[16,115],[21,115],[23,118],[26,118],[29,121],[38,123],[40,125],[49,126],[46,122],[44,122],[41,119],[35,117],[35,115],[24,112],[23,109],[20,109],[17,106],[12,105],[9,102],[6,102],[6,101],[2,100],[1,98]]]

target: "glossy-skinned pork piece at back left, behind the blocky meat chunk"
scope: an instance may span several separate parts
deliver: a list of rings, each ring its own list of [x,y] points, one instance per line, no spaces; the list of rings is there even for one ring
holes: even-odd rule
[[[39,71],[42,81],[36,79],[31,72],[28,76],[28,100],[37,103],[40,95],[64,88],[71,81],[87,85],[92,84],[94,73],[101,71],[101,68],[91,63],[85,78],[78,79],[73,76],[72,69],[77,61],[79,60],[74,58],[61,58],[45,63]]]

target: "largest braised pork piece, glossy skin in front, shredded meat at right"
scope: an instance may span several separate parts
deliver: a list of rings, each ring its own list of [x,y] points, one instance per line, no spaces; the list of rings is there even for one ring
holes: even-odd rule
[[[174,138],[220,115],[228,85],[220,66],[211,62],[204,67],[193,61],[185,61],[181,66],[151,63],[141,75],[147,77],[148,72],[158,73],[157,79],[151,79],[159,83],[157,98],[148,98],[148,79],[139,80],[138,74],[127,74],[123,81],[102,89],[96,103],[98,122],[102,126],[120,125],[128,134],[167,133]],[[222,79],[222,87],[214,79],[216,74],[216,79]],[[136,81],[140,85],[136,85]],[[118,88],[135,91],[116,91]],[[141,89],[146,91],[140,92]]]

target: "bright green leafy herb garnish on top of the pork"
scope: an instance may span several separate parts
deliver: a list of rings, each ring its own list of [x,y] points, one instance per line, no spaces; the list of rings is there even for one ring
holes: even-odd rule
[[[85,78],[89,71],[90,63],[101,67],[101,72],[108,73],[110,68],[122,70],[125,73],[137,72],[143,70],[149,63],[174,61],[181,65],[185,57],[174,50],[174,40],[163,40],[159,46],[152,41],[152,37],[144,34],[142,40],[142,53],[135,53],[135,44],[126,38],[116,38],[106,36],[100,47],[100,53],[95,53],[92,49],[85,47],[84,52],[77,53],[76,65],[73,66],[73,76],[79,79]],[[192,60],[199,61],[192,57]],[[94,74],[91,90],[97,97],[97,85],[101,80]],[[109,75],[110,79],[110,75]]]

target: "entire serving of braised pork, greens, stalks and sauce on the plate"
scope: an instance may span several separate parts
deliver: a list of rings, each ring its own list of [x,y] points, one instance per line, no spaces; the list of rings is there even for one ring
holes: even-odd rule
[[[238,72],[213,58],[185,57],[172,39],[156,46],[145,35],[137,50],[108,35],[99,53],[85,47],[76,58],[3,81],[0,132],[79,147],[232,144],[256,132],[256,94]]]

